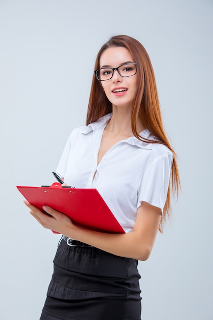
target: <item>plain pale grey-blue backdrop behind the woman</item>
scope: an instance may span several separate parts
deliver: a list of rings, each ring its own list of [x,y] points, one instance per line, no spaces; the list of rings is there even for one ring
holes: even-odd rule
[[[213,319],[212,21],[212,0],[0,0],[0,320],[39,319],[60,237],[16,186],[55,181],[85,123],[96,54],[117,34],[150,55],[182,183],[171,224],[139,262],[142,319]]]

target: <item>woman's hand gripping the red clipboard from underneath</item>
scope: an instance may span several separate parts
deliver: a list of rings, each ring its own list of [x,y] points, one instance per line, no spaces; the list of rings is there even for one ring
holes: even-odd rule
[[[67,231],[72,232],[72,228],[75,228],[72,220],[61,212],[54,210],[46,205],[43,206],[43,210],[48,213],[41,212],[34,205],[30,204],[27,200],[23,201],[30,209],[30,214],[44,227],[60,234],[67,234]]]

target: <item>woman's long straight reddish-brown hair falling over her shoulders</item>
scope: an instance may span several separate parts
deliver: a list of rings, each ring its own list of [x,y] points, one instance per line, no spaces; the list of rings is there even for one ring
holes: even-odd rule
[[[174,154],[172,164],[172,172],[170,178],[170,186],[168,189],[167,200],[163,209],[159,230],[162,232],[162,227],[167,218],[170,218],[171,212],[171,189],[173,194],[177,193],[180,188],[180,179],[176,161],[176,154],[172,149],[167,136],[165,135],[160,104],[157,93],[157,86],[154,76],[153,67],[149,55],[143,45],[136,39],[126,36],[113,36],[100,49],[94,69],[100,68],[100,57],[102,53],[110,47],[124,47],[132,55],[133,61],[137,65],[138,89],[132,104],[131,126],[132,132],[139,140],[144,140],[136,130],[137,119],[141,119],[145,127],[157,138],[153,143],[161,143],[167,146]],[[100,81],[93,75],[89,104],[87,110],[86,125],[97,121],[99,118],[112,112],[112,103],[107,99],[103,92]],[[150,140],[146,140],[150,142]]]

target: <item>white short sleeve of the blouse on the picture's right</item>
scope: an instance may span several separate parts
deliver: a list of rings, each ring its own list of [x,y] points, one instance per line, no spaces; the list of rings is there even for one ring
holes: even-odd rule
[[[146,201],[163,210],[170,183],[173,153],[158,156],[145,169],[138,191],[137,208]]]

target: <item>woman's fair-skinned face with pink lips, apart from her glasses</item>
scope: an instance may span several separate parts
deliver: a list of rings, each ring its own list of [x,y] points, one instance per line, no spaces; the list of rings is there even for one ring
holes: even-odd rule
[[[106,49],[100,57],[100,68],[115,68],[122,64],[135,63],[126,48],[111,47]],[[124,72],[126,70],[124,69]],[[109,80],[100,81],[104,92],[113,106],[130,108],[137,90],[137,74],[122,77],[117,70]]]

